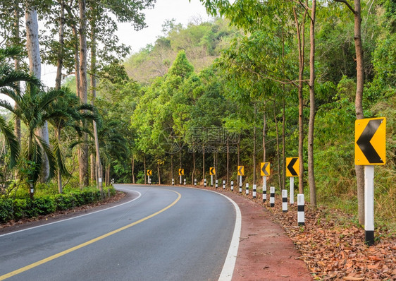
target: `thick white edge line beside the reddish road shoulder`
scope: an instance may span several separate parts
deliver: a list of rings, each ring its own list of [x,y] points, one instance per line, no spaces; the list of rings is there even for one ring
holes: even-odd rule
[[[217,193],[217,192],[216,192]],[[235,208],[235,227],[233,238],[231,239],[230,248],[228,249],[227,257],[225,258],[225,262],[223,265],[223,270],[221,270],[220,277],[218,277],[218,281],[230,281],[233,279],[233,273],[235,268],[235,262],[237,261],[237,253],[238,247],[240,245],[240,232],[242,228],[242,215],[240,213],[240,208],[233,201],[233,199],[225,196],[224,194],[218,193],[221,196],[227,198],[231,203],[233,203]]]

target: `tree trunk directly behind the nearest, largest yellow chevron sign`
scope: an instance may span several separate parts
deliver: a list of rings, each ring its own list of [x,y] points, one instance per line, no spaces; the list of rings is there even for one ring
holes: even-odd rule
[[[361,6],[360,0],[354,1],[354,8],[346,0],[335,0],[342,2],[354,14],[354,49],[356,52],[356,95],[355,95],[355,114],[356,119],[363,119],[363,87],[364,87],[364,61],[363,61],[363,42],[361,41]],[[355,165],[357,180],[357,209],[359,224],[364,225],[364,167]]]

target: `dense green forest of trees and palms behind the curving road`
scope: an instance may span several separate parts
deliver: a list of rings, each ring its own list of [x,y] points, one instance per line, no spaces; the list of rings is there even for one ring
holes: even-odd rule
[[[354,121],[386,117],[375,212],[395,224],[394,0],[202,0],[213,20],[167,20],[135,54],[117,22],[144,28],[155,1],[116,2],[1,2],[0,90],[14,102],[0,102],[2,198],[147,184],[148,169],[154,184],[179,169],[203,184],[215,167],[229,186],[243,165],[244,184],[261,186],[261,162],[279,194],[286,157],[299,157],[306,202],[362,225]],[[56,66],[55,88],[42,63]]]

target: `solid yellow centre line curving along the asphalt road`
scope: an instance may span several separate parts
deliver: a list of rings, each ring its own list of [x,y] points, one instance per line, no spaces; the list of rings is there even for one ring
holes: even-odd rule
[[[168,189],[168,190],[169,190],[169,189]],[[171,191],[171,190],[169,190],[169,191]],[[125,227],[120,227],[120,228],[118,228],[118,229],[116,229],[116,230],[113,230],[112,232],[108,232],[108,233],[103,234],[103,235],[101,235],[101,236],[99,236],[99,237],[97,237],[97,238],[94,238],[94,239],[92,239],[92,240],[86,241],[85,243],[82,243],[82,244],[80,244],[80,245],[74,246],[73,248],[67,249],[67,250],[65,250],[65,251],[61,251],[60,253],[56,253],[56,254],[53,255],[53,256],[49,256],[48,258],[43,258],[41,261],[37,261],[37,262],[35,262],[35,263],[31,263],[30,265],[26,265],[26,266],[23,267],[23,268],[19,268],[19,269],[17,269],[17,270],[14,270],[14,271],[12,271],[11,273],[7,273],[7,274],[5,274],[5,275],[1,275],[1,276],[0,276],[0,281],[1,281],[1,280],[5,280],[5,279],[7,279],[7,278],[9,278],[9,277],[12,277],[12,276],[14,276],[14,275],[18,275],[19,273],[23,273],[23,272],[26,271],[26,270],[30,270],[30,269],[32,269],[32,268],[35,268],[36,266],[42,265],[43,263],[48,263],[49,261],[52,261],[52,260],[54,260],[55,258],[59,258],[59,257],[61,257],[61,256],[66,255],[66,253],[71,253],[71,252],[73,252],[73,251],[75,251],[75,250],[81,249],[82,247],[85,247],[85,246],[88,246],[88,245],[90,245],[90,244],[93,244],[93,243],[96,242],[96,241],[99,241],[99,240],[101,240],[101,239],[104,239],[104,238],[106,238],[106,237],[109,237],[109,236],[111,236],[111,235],[113,235],[113,234],[116,234],[116,233],[118,233],[118,232],[121,232],[121,231],[123,231],[123,230],[125,230],[125,229],[127,229],[127,228],[133,227],[134,225],[140,224],[140,222],[144,222],[144,220],[149,220],[151,217],[155,217],[156,215],[159,215],[159,214],[162,213],[163,211],[166,211],[166,210],[168,210],[169,208],[171,208],[173,205],[175,205],[175,203],[178,203],[178,201],[179,201],[180,198],[182,197],[180,193],[178,193],[178,192],[176,192],[176,191],[172,191],[172,192],[177,193],[177,194],[178,194],[178,198],[176,198],[176,200],[173,201],[173,203],[171,203],[171,205],[166,206],[166,207],[163,208],[162,210],[159,210],[158,212],[156,212],[156,213],[154,213],[154,214],[152,214],[152,215],[149,215],[149,216],[147,216],[147,217],[144,217],[144,218],[142,218],[141,220],[137,220],[136,222],[132,222],[130,225],[125,225]]]

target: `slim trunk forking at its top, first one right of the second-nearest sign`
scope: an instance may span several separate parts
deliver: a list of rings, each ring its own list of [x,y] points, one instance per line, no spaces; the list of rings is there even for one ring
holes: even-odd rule
[[[297,42],[298,42],[298,52],[299,52],[299,83],[298,83],[298,126],[299,126],[299,136],[298,136],[298,157],[299,157],[299,177],[298,177],[298,188],[299,193],[304,193],[304,100],[302,96],[303,88],[303,78],[304,78],[304,23],[307,11],[304,11],[304,16],[302,18],[301,25],[298,22],[296,8],[293,8],[293,13],[295,16],[295,25],[297,30]]]

